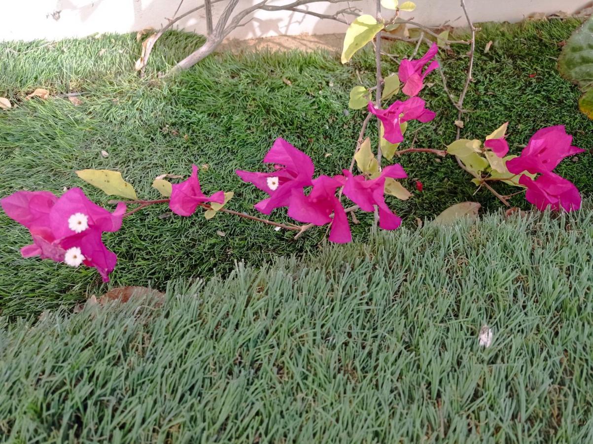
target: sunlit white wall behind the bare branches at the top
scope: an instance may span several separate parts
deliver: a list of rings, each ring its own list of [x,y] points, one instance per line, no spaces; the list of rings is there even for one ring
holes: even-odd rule
[[[241,0],[237,10],[260,0]],[[270,4],[286,4],[292,0],[270,0]],[[459,0],[415,0],[417,9],[403,17],[415,17],[427,25],[439,25],[450,20],[463,25],[458,19],[462,11]],[[125,33],[145,27],[159,28],[171,17],[180,0],[0,0],[0,40],[63,39],[93,33]],[[228,0],[213,5],[219,14]],[[556,12],[559,8],[572,13],[590,0],[466,0],[474,21],[519,21],[533,12]],[[201,4],[201,0],[185,0],[179,14]],[[374,14],[374,0],[352,2],[364,12]],[[311,11],[329,13],[344,6],[320,2],[310,5]],[[390,17],[391,11],[384,11]],[[200,32],[205,28],[203,9],[180,22],[180,28]],[[253,37],[281,34],[328,34],[343,32],[345,26],[330,20],[295,12],[263,12],[254,15],[253,21],[236,30],[231,37]]]

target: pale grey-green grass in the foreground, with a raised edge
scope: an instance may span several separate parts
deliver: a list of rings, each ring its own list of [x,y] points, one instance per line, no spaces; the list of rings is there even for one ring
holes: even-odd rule
[[[177,281],[160,308],[0,318],[0,434],[591,442],[592,223],[589,210],[404,228]]]

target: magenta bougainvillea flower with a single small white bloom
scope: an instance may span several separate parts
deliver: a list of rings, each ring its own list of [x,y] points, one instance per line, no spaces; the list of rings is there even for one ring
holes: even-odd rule
[[[256,210],[261,213],[270,214],[275,208],[288,207],[293,190],[302,192],[305,186],[313,185],[315,170],[313,160],[285,139],[276,139],[266,157],[263,158],[263,162],[275,164],[276,170],[271,173],[243,170],[235,172],[244,182],[253,183],[257,188],[270,195],[269,198],[254,205]]]

